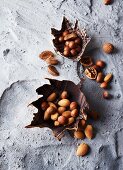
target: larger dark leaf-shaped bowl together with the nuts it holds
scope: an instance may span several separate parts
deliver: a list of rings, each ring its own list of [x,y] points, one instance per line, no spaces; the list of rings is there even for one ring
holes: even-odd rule
[[[66,130],[78,129],[79,121],[87,117],[85,110],[89,105],[79,85],[67,80],[48,80],[50,84],[36,90],[43,97],[31,103],[38,112],[34,114],[31,124],[26,127],[49,127],[60,140]]]

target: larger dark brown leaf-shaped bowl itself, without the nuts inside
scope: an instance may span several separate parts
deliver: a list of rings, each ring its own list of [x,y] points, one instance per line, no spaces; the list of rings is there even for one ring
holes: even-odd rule
[[[33,117],[31,124],[26,126],[26,128],[48,127],[53,131],[55,137],[57,137],[57,139],[60,140],[64,136],[65,131],[77,130],[79,121],[82,119],[87,120],[86,110],[89,109],[89,105],[86,101],[84,94],[80,90],[79,84],[76,85],[72,81],[67,81],[67,80],[63,80],[63,81],[58,81],[58,80],[54,80],[54,79],[48,79],[48,80],[49,80],[50,84],[44,84],[43,86],[36,89],[36,92],[39,95],[43,95],[43,96],[41,98],[39,98],[38,100],[31,103],[34,107],[36,107],[38,109],[38,112],[34,113],[34,117]],[[77,107],[78,107],[79,112],[78,112],[78,115],[76,117],[74,117],[74,121],[71,124],[68,124],[66,122],[64,125],[60,124],[59,126],[55,126],[53,120],[44,118],[46,111],[44,109],[42,109],[41,105],[43,102],[51,101],[51,100],[49,100],[49,96],[51,96],[51,94],[55,93],[55,94],[57,94],[57,97],[53,99],[54,100],[53,103],[58,108],[59,101],[61,100],[61,94],[63,91],[68,92],[69,101],[71,101],[71,102],[75,101],[78,104]],[[65,100],[67,100],[67,99],[65,99]],[[48,104],[52,104],[52,102],[49,102]],[[67,106],[66,108],[67,108],[67,110],[70,110],[70,106]],[[55,112],[58,112],[58,110]],[[70,111],[68,111],[68,112],[70,112]],[[61,116],[61,115],[59,115],[59,116]]]

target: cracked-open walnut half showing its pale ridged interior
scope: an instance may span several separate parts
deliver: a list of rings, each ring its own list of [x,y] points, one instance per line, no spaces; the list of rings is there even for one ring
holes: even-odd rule
[[[93,67],[86,68],[84,73],[89,79],[96,79],[97,77],[97,71]]]

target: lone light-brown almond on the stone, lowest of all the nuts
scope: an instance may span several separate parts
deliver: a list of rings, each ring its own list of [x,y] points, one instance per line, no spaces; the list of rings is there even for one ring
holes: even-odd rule
[[[88,151],[89,151],[89,146],[86,143],[82,143],[78,146],[76,155],[77,156],[85,156],[85,155],[87,155]]]

